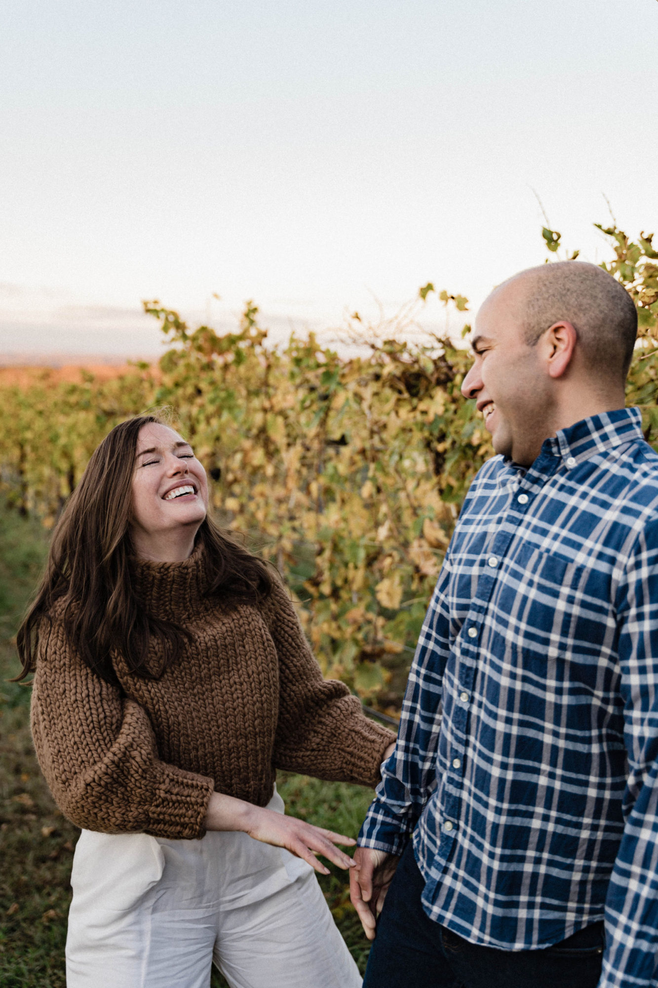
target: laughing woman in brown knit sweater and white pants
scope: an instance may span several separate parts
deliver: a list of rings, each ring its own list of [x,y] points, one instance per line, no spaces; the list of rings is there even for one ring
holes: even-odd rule
[[[313,873],[350,839],[284,815],[278,768],[374,785],[393,735],[324,682],[288,594],[207,517],[152,415],[91,457],[19,632],[41,769],[82,828],[68,988],[357,988]]]

